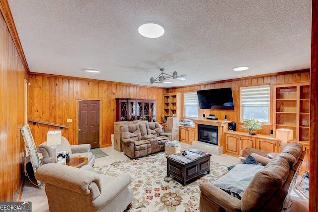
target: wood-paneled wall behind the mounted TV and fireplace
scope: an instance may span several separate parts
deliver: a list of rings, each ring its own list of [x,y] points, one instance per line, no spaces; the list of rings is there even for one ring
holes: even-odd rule
[[[299,81],[309,81],[310,72],[309,70],[300,70],[300,71],[291,71],[292,73],[285,74],[275,74],[275,75],[266,75],[259,76],[255,78],[243,78],[237,80],[229,80],[228,82],[216,82],[209,84],[200,84],[186,87],[179,87],[173,89],[166,89],[165,93],[174,93],[174,92],[191,92],[196,90],[207,90],[214,88],[225,88],[232,87],[233,101],[234,101],[234,110],[209,110],[209,109],[199,109],[199,117],[201,118],[203,114],[208,116],[209,114],[215,114],[218,119],[224,119],[224,116],[228,116],[228,120],[231,120],[237,124],[237,131],[243,131],[240,129],[240,97],[239,97],[239,88],[241,86],[256,86],[263,84],[275,84],[275,83],[291,83]],[[273,119],[271,114],[271,122],[269,125],[264,125],[262,130],[257,133],[270,135],[270,130],[273,129]]]

